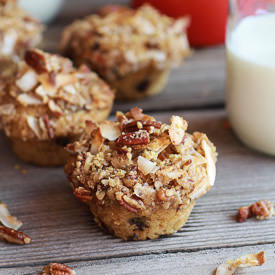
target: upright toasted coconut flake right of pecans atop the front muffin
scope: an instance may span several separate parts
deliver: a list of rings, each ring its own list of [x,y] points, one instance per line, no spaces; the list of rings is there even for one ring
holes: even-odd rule
[[[169,128],[169,136],[173,145],[180,145],[183,141],[187,122],[179,116],[172,116],[170,119],[171,126]]]

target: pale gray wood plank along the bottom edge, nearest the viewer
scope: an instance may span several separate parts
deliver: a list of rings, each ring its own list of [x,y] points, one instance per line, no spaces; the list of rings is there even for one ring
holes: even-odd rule
[[[87,274],[182,274],[182,275],[212,275],[219,264],[228,259],[242,255],[257,253],[264,250],[266,262],[261,267],[240,268],[235,274],[275,273],[274,244],[263,246],[248,246],[239,248],[203,250],[191,253],[169,253],[162,255],[144,255],[104,260],[90,259],[86,262],[69,262],[78,275]],[[26,266],[0,270],[0,275],[38,275],[43,266]]]

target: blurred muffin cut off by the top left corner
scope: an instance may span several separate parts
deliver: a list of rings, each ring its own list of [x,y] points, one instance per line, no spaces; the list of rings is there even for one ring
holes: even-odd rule
[[[27,49],[38,46],[43,27],[16,0],[0,0],[0,77],[16,72],[17,62]]]

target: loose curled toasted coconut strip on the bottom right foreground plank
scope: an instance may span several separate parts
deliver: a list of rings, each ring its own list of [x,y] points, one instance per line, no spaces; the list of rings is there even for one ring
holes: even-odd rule
[[[239,267],[260,266],[265,262],[265,253],[261,251],[257,254],[249,254],[235,260],[228,260],[218,266],[216,275],[231,275]]]

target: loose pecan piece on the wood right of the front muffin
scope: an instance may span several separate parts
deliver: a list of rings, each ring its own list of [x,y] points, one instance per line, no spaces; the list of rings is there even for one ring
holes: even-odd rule
[[[250,217],[258,220],[270,219],[274,213],[273,203],[268,200],[257,201],[250,206],[240,207],[238,210],[238,222],[245,222]]]

